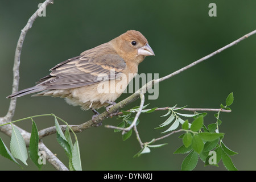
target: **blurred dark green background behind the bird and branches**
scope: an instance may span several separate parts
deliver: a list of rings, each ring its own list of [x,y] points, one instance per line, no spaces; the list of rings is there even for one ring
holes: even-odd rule
[[[6,114],[13,81],[13,60],[20,30],[42,1],[0,1],[0,116]],[[46,10],[46,17],[36,19],[24,40],[19,89],[34,83],[49,73],[49,69],[79,55],[86,49],[108,42],[127,30],[138,30],[147,38],[155,56],[146,57],[139,65],[139,73],[159,73],[166,76],[226,46],[255,29],[256,1],[214,1],[217,17],[210,17],[209,3],[213,1],[67,1],[55,0]],[[224,143],[238,155],[232,157],[240,170],[256,169],[255,103],[256,103],[256,35],[210,58],[183,73],[159,84],[158,100],[146,100],[148,107],[184,106],[218,108],[234,93],[232,113],[221,113],[220,132]],[[121,101],[130,94],[123,94]],[[147,97],[146,97],[147,98]],[[139,105],[139,100],[126,106]],[[100,109],[99,111],[104,111]],[[88,121],[91,111],[82,111],[51,97],[18,98],[13,119],[37,114],[54,113],[71,125]],[[155,130],[164,121],[166,111],[142,114],[138,125],[143,142],[162,136]],[[183,112],[185,113],[185,112]],[[205,125],[215,122],[214,113],[205,117]],[[38,129],[54,125],[54,119],[35,119]],[[185,155],[173,154],[181,146],[180,134],[159,143],[150,154],[133,158],[139,150],[135,135],[122,141],[121,133],[114,133],[104,125],[117,125],[108,118],[101,127],[92,127],[77,134],[84,170],[180,170]],[[31,122],[18,126],[31,131]],[[10,138],[0,137],[9,147]],[[43,139],[47,147],[68,166],[64,150],[51,135]],[[157,143],[158,144],[158,143]],[[28,159],[23,170],[36,170]],[[0,170],[19,170],[10,160],[0,156]],[[43,170],[54,170],[47,162]],[[225,167],[204,167],[199,159],[196,170],[222,170]]]

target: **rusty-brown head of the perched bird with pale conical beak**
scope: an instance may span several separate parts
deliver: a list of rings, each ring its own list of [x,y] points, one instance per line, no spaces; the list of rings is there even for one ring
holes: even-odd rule
[[[113,41],[117,53],[126,61],[135,61],[139,64],[145,56],[155,55],[147,39],[139,31],[129,30]]]

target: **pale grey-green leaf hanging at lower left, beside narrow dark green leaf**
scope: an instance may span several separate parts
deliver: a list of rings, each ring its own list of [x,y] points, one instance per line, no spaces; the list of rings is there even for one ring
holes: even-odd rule
[[[27,147],[26,143],[22,137],[22,135],[19,132],[19,129],[17,129],[15,126],[12,126],[12,133],[11,133],[11,154],[13,154],[14,158],[21,160],[24,164],[27,165]]]

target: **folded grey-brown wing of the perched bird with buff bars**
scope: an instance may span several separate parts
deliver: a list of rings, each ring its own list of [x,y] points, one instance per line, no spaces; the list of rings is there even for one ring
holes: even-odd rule
[[[41,78],[37,84],[46,89],[77,88],[114,79],[126,68],[125,61],[117,54],[88,55],[85,53],[57,64],[50,75]]]

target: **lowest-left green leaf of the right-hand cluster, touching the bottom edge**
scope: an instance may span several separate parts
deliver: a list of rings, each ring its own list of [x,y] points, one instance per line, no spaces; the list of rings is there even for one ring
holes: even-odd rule
[[[181,164],[181,170],[182,171],[191,171],[196,167],[198,161],[198,155],[196,152],[192,151],[190,152],[185,159],[183,160]]]

